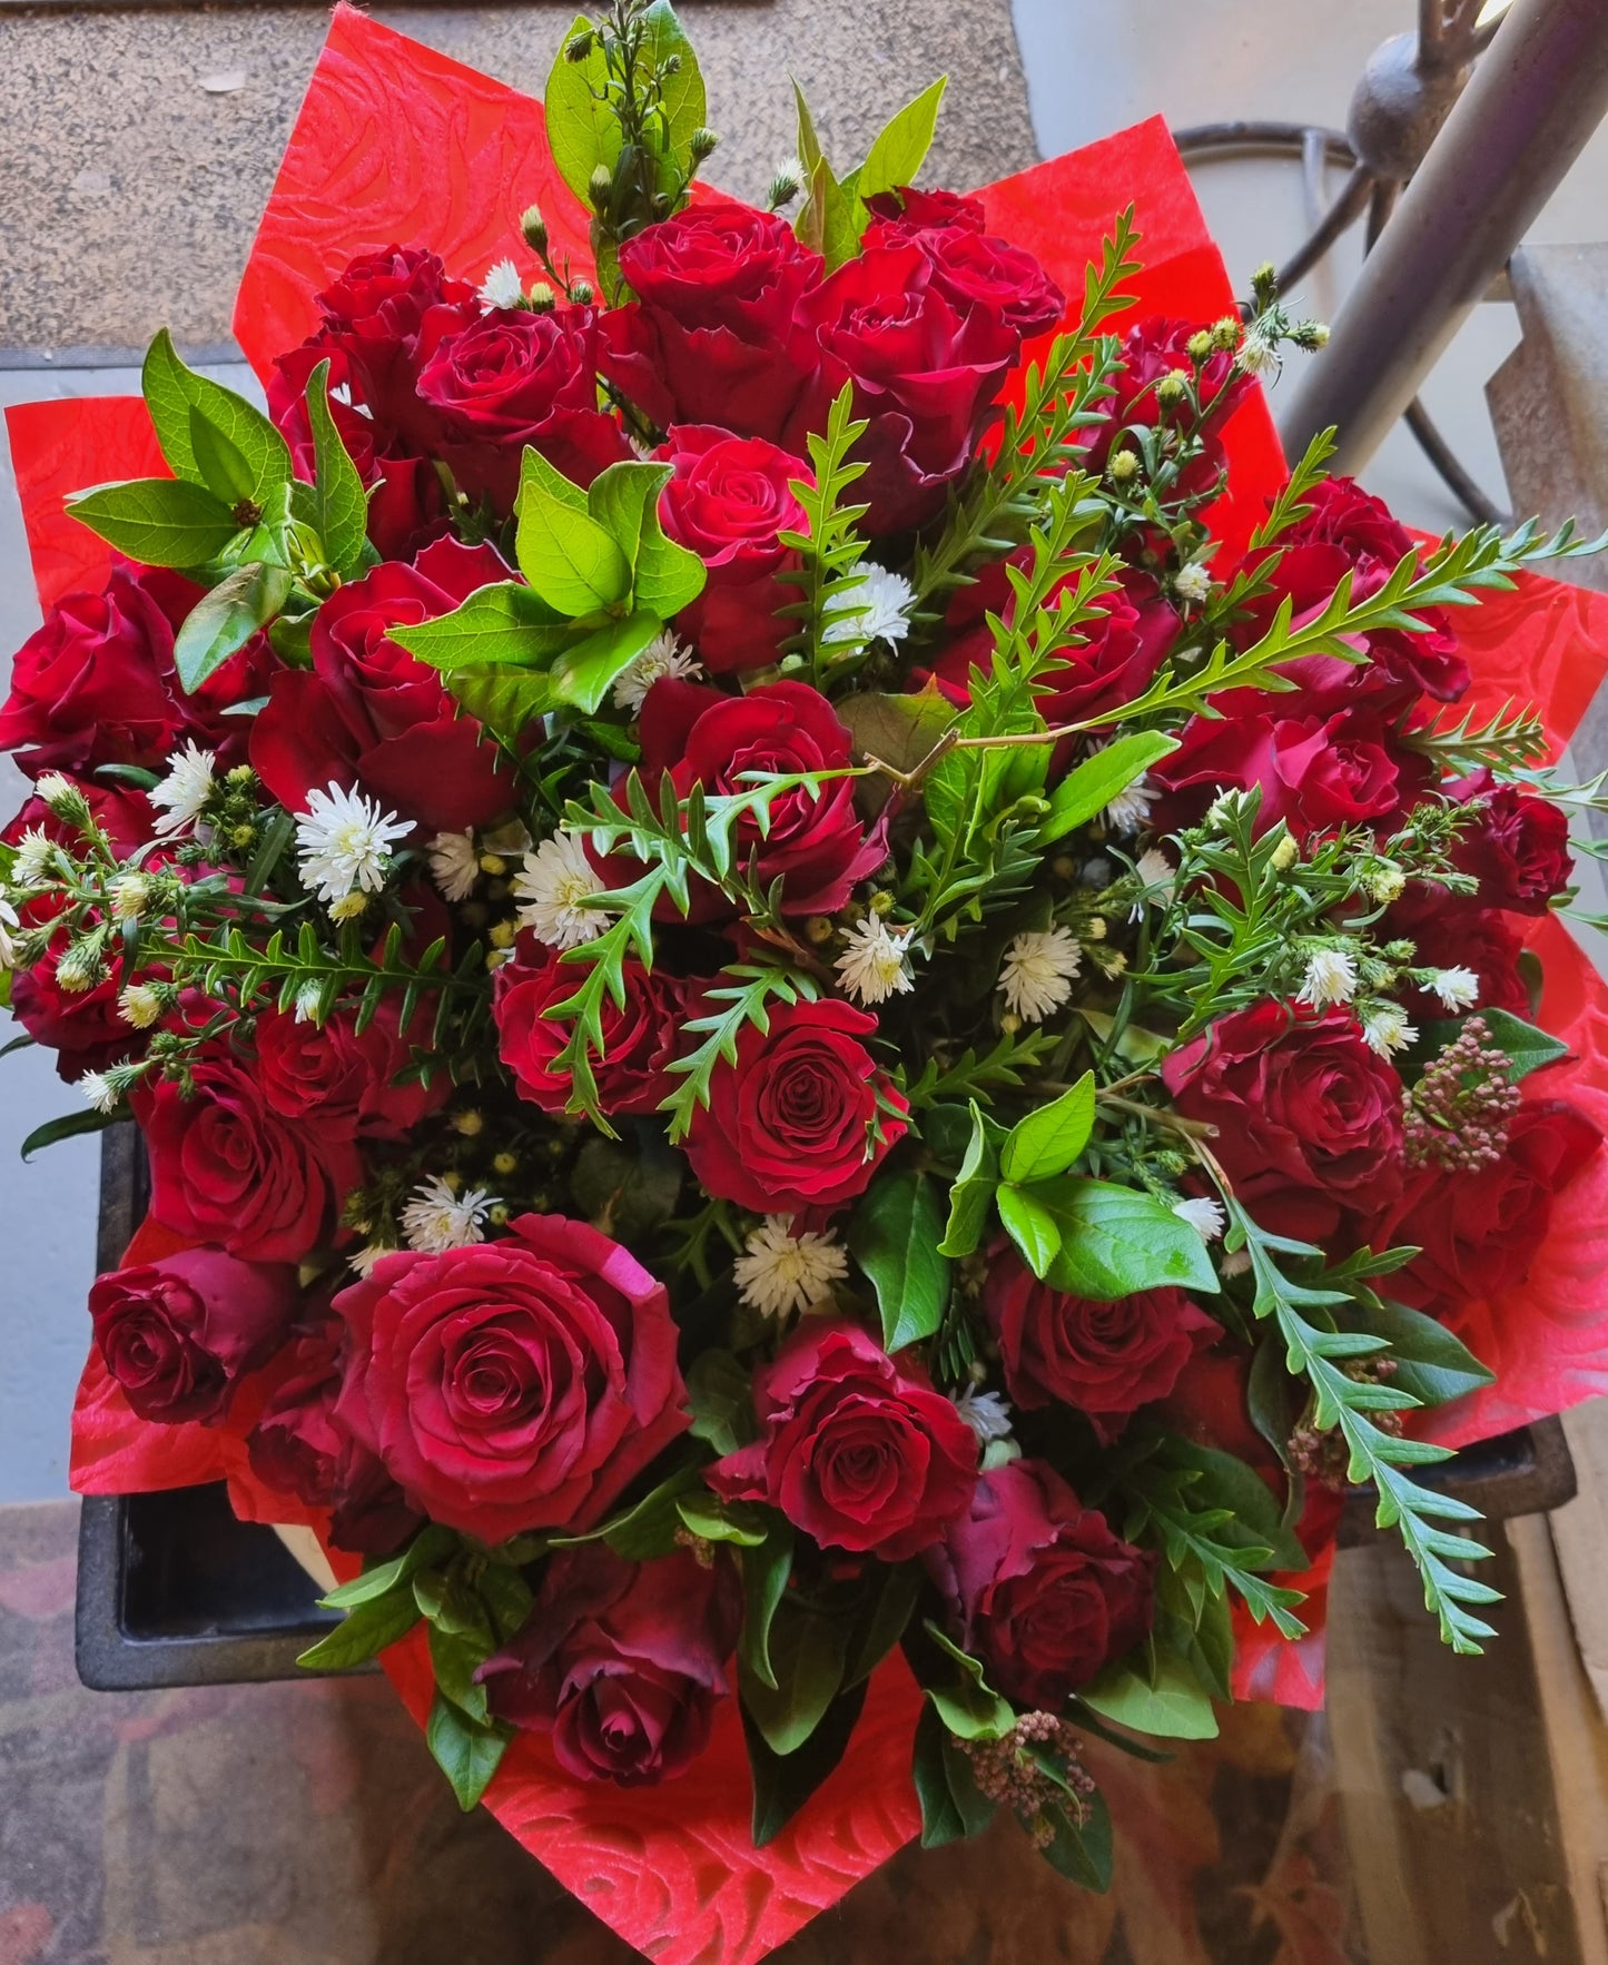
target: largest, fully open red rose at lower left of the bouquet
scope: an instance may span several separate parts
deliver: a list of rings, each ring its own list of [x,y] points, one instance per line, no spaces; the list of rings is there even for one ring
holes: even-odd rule
[[[486,1543],[590,1527],[688,1427],[664,1285],[586,1222],[383,1256],[334,1307],[338,1417],[413,1507]]]

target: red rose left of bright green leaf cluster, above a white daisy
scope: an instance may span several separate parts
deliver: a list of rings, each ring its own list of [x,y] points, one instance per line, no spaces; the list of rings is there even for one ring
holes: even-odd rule
[[[432,831],[507,812],[507,760],[436,670],[387,631],[434,621],[509,578],[491,546],[440,538],[413,566],[375,566],[332,593],[313,621],[313,668],[281,668],[252,729],[252,764],[269,792],[305,812],[309,792],[360,786]]]

